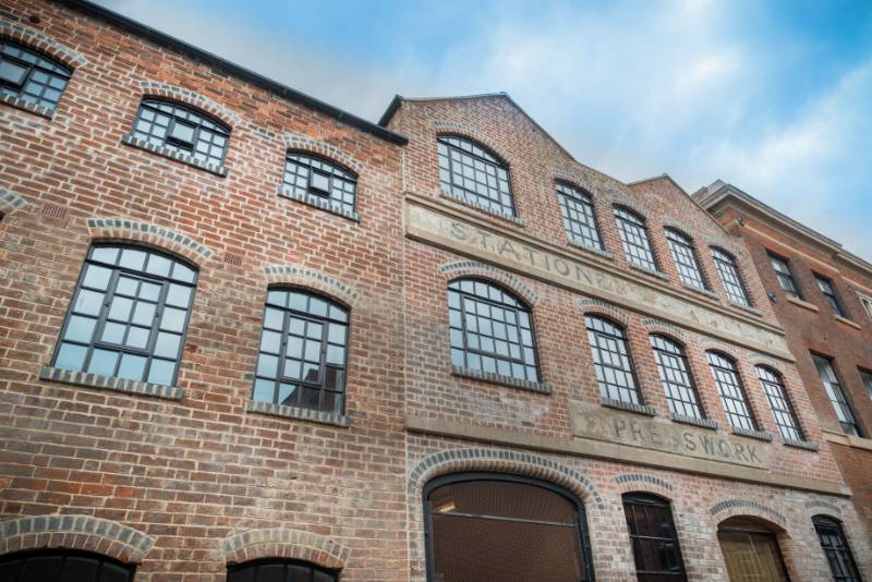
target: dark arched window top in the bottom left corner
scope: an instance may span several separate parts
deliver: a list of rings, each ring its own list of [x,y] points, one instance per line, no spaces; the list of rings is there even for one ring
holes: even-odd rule
[[[120,561],[68,549],[21,551],[0,557],[3,582],[133,582],[134,567]]]

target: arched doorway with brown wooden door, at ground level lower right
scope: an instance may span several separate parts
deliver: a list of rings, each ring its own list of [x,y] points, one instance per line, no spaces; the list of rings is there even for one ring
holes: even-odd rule
[[[789,582],[775,534],[773,525],[752,517],[720,522],[717,541],[730,582]]]

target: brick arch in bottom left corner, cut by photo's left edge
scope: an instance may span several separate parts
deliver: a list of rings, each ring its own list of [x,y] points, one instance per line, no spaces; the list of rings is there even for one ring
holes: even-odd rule
[[[144,532],[90,516],[32,516],[0,523],[0,555],[65,548],[140,563],[154,545],[155,538]]]

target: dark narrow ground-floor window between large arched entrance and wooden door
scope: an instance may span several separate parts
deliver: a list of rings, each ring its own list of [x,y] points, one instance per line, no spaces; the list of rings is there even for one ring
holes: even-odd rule
[[[669,502],[644,493],[622,499],[639,582],[687,580]]]

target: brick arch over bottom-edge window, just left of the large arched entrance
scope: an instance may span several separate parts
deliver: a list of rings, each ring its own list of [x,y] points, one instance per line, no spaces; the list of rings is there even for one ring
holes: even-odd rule
[[[351,548],[326,535],[290,528],[269,528],[227,536],[221,542],[221,553],[228,565],[287,558],[322,568],[342,569],[351,556]]]

